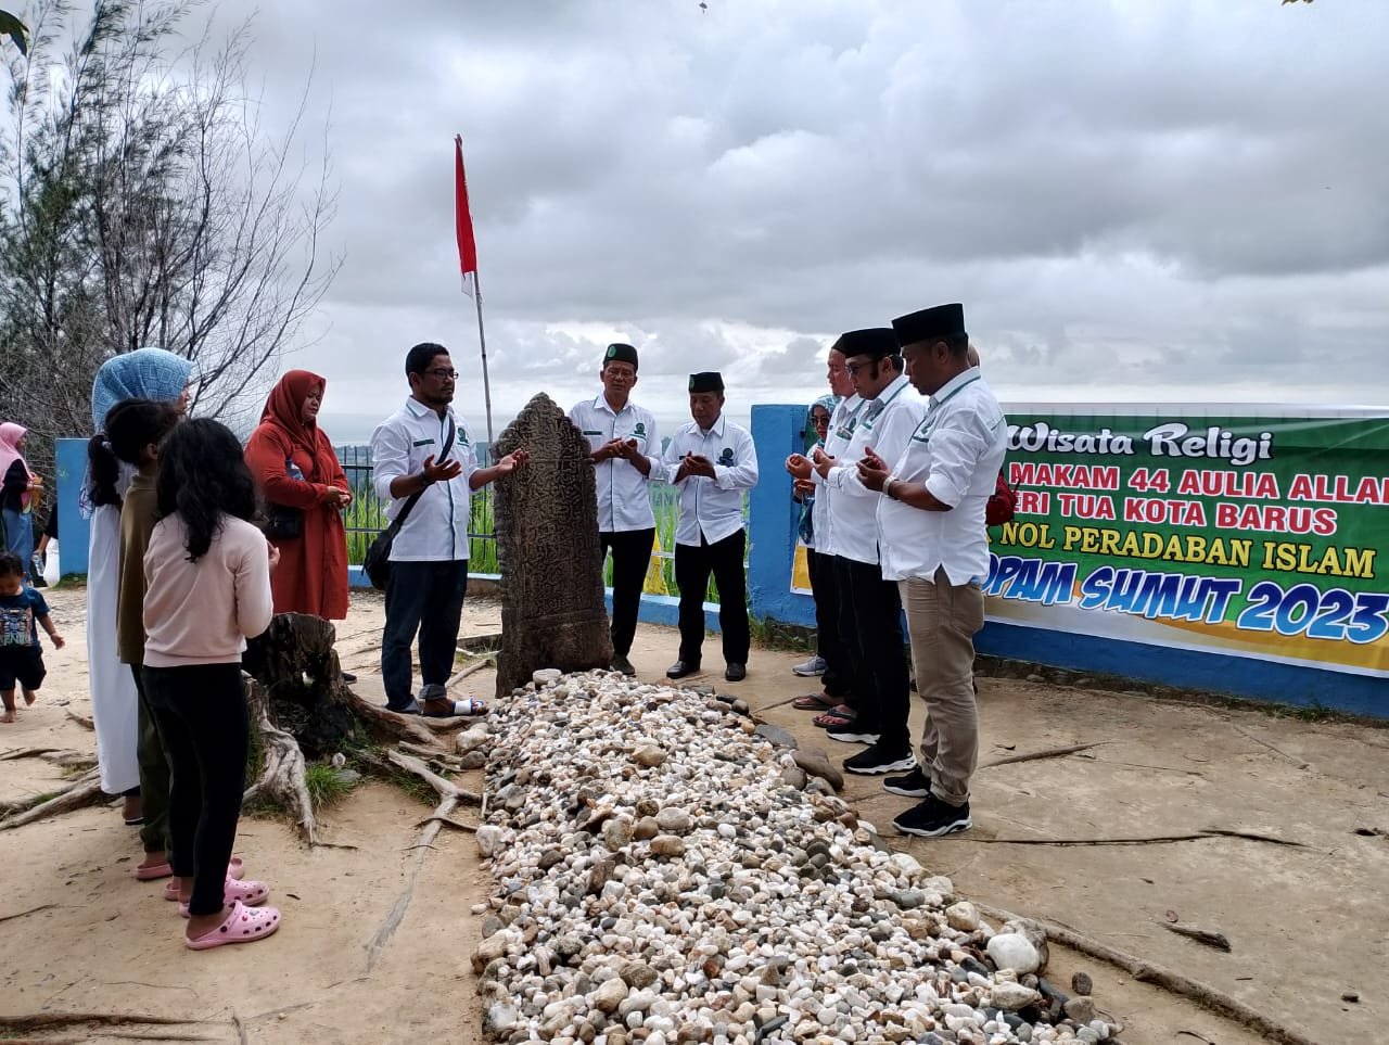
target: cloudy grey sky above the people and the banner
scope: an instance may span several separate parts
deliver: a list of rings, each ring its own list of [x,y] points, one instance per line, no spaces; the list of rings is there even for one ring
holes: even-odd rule
[[[325,10],[265,6],[253,67],[329,120],[344,263],[286,365],[336,439],[417,340],[482,428],[454,132],[499,421],[615,339],[665,421],[692,370],[804,402],[839,331],[950,300],[1004,399],[1389,402],[1383,0]]]

